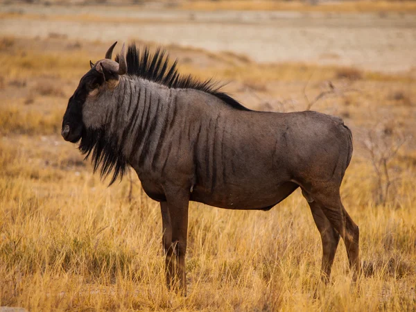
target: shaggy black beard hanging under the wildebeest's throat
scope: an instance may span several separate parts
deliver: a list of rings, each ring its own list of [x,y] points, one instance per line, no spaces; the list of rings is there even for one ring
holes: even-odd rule
[[[117,177],[120,177],[120,180],[123,178],[128,165],[121,148],[117,146],[117,142],[113,138],[114,136],[105,134],[104,128],[84,127],[78,147],[80,152],[85,155],[85,159],[91,156],[94,173],[100,168],[103,178],[113,171],[109,186],[117,180]]]

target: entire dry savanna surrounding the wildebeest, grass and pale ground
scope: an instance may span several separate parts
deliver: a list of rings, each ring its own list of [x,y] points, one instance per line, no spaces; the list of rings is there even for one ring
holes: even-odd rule
[[[224,91],[251,109],[317,110],[344,119],[353,132],[354,157],[343,200],[361,227],[372,300],[348,293],[347,282],[339,280],[326,301],[312,300],[314,278],[309,277],[319,273],[320,239],[296,193],[268,216],[193,204],[189,279],[194,301],[164,304],[171,294],[152,288],[163,285],[157,204],[132,174],[106,189],[107,181],[93,175],[76,146],[60,137],[68,98],[89,70],[89,60],[102,59],[115,41],[163,46],[179,60],[181,72],[228,82]],[[110,311],[175,304],[208,310],[244,311],[266,304],[269,311],[346,306],[375,311],[416,304],[415,51],[416,1],[1,0],[0,279],[6,281],[0,286],[1,304],[31,311],[88,304]],[[232,221],[218,220],[247,222],[246,232],[236,233]],[[270,282],[258,270],[270,269],[276,252],[245,261],[253,253],[250,238],[262,241],[259,250],[268,250],[276,245],[267,231],[290,231],[293,222],[305,236],[285,236],[283,243],[291,247],[281,252],[280,275],[274,275],[279,281]],[[134,230],[126,234],[130,227]],[[259,234],[259,227],[268,230]],[[138,232],[146,235],[137,237]],[[233,240],[240,249],[229,247]],[[138,248],[154,262],[136,256]],[[218,251],[224,249],[228,253]],[[218,253],[214,257],[209,250]],[[305,250],[309,256],[300,257]],[[343,258],[334,271],[343,276],[345,252],[338,253]],[[288,278],[290,270],[281,269],[293,266],[295,256],[288,255],[300,257],[297,268],[311,261],[315,270]],[[149,266],[153,271],[145,269]],[[137,272],[144,285],[139,293],[153,295],[129,292],[137,287]],[[91,287],[96,297],[86,295]],[[201,292],[216,297],[202,300]]]

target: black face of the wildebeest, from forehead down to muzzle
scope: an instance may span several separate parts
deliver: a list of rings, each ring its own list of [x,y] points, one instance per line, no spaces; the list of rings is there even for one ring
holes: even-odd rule
[[[98,89],[104,83],[102,73],[92,68],[80,80],[80,84],[76,88],[73,96],[69,98],[67,111],[62,121],[62,137],[65,141],[76,143],[83,135],[83,105],[87,100],[87,96]]]

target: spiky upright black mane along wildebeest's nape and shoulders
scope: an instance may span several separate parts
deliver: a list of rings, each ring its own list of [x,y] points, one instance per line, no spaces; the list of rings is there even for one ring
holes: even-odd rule
[[[178,73],[177,60],[171,65],[168,64],[168,55],[162,49],[157,49],[152,54],[147,46],[140,51],[135,44],[130,44],[125,60],[130,76],[138,76],[173,89],[197,89],[216,96],[237,110],[249,110],[228,94],[220,92],[223,85],[218,85],[214,80],[200,81],[191,75],[184,76]],[[116,56],[116,62],[119,62],[119,55]]]

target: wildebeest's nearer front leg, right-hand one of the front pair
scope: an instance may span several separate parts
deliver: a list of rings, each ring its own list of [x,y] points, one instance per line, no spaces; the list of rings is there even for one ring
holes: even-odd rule
[[[189,191],[166,192],[168,213],[171,217],[171,248],[175,257],[175,281],[179,282],[182,295],[187,295],[185,254],[187,253]]]

